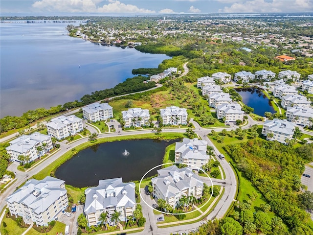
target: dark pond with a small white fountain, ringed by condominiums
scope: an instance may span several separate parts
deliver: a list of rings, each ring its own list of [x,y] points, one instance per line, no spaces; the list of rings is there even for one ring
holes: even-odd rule
[[[162,164],[165,148],[180,140],[130,140],[93,145],[75,154],[55,172],[55,177],[78,188],[97,186],[99,180],[122,177],[123,182],[140,180]],[[123,152],[129,152],[124,156]],[[157,169],[146,177],[155,175]]]

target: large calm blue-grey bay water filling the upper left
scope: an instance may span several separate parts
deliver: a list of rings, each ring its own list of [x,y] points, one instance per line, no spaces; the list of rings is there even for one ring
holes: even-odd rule
[[[71,38],[67,25],[0,24],[1,118],[79,100],[133,77],[132,69],[157,68],[170,58]]]

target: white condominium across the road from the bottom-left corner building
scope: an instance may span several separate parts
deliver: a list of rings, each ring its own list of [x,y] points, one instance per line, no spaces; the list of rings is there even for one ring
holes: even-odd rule
[[[53,146],[51,137],[35,132],[31,135],[22,135],[13,141],[9,142],[10,145],[6,147],[6,152],[10,155],[11,162],[21,162],[19,156],[23,155],[27,159],[23,163],[31,163],[35,159],[40,158],[49,152]],[[45,145],[45,146],[44,146]],[[39,150],[41,146],[41,150]]]

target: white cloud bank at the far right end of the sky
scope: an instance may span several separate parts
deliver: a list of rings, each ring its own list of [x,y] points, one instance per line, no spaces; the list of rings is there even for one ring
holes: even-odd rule
[[[220,1],[222,2],[222,1]],[[229,2],[229,1],[228,1]],[[313,11],[312,0],[250,0],[233,1],[219,12],[308,12]]]

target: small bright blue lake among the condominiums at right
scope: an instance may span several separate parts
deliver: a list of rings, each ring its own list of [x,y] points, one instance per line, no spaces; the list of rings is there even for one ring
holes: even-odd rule
[[[268,97],[257,88],[236,88],[235,91],[243,97],[243,102],[254,108],[254,114],[264,116],[265,112],[275,113],[274,108],[269,103]]]

